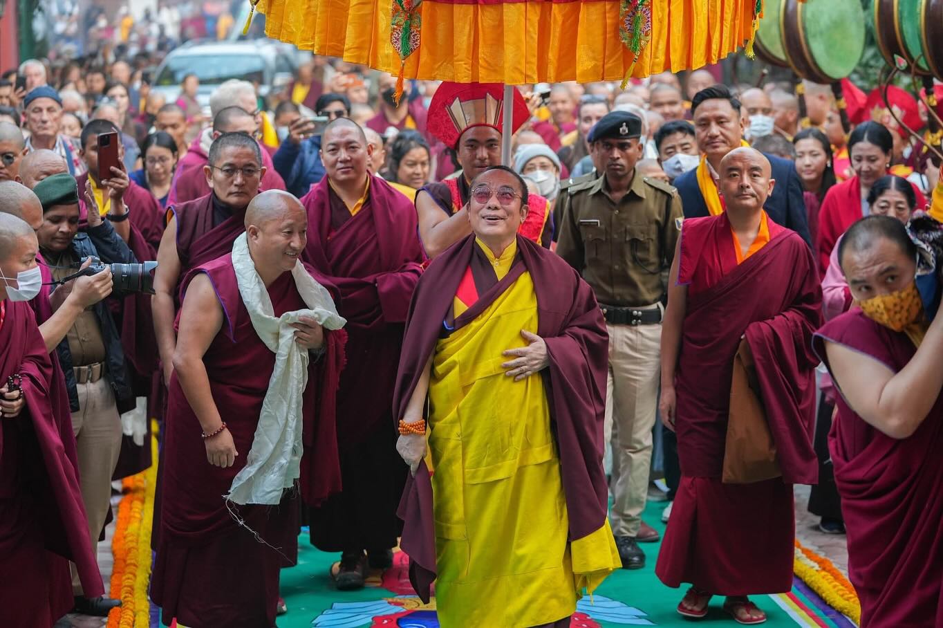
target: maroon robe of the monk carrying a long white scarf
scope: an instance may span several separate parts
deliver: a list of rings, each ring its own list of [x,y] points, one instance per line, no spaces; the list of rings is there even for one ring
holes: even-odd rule
[[[239,456],[228,469],[209,464],[200,422],[174,372],[151,597],[163,609],[165,621],[176,618],[189,628],[272,626],[278,571],[293,564],[297,554],[297,501],[290,491],[277,506],[227,503],[223,495],[252,449],[275,355],[256,335],[240,297],[232,256],[194,269],[184,290],[196,273],[207,273],[223,307],[223,327],[203,361],[213,401]],[[321,280],[317,274],[315,278]],[[276,317],[306,307],[291,273],[282,273],[268,292]],[[302,461],[302,493],[320,500],[340,488],[335,420],[323,410],[333,405],[328,398],[335,394],[339,377],[343,332],[325,330],[324,337],[326,354],[308,367]]]

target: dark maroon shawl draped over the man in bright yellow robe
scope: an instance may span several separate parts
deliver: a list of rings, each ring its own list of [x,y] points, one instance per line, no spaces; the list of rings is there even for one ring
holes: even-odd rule
[[[608,488],[603,471],[603,418],[608,335],[596,297],[579,274],[562,258],[520,234],[517,242],[518,256],[505,278],[481,293],[451,326],[457,329],[472,322],[522,273],[530,273],[537,293],[538,336],[546,342],[550,358],[550,366],[540,375],[559,448],[572,541],[596,532],[605,522]],[[475,273],[477,248],[473,235],[456,242],[422,275],[409,308],[393,417],[405,413],[443,332],[443,323],[452,315],[462,276],[470,265]],[[427,601],[436,575],[436,538],[432,484],[425,463],[407,480],[399,514],[405,521],[400,546],[409,554],[409,578]]]

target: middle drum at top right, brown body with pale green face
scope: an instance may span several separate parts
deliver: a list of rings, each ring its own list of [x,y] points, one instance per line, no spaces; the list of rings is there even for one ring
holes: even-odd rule
[[[786,61],[796,74],[833,83],[852,74],[861,59],[865,12],[860,0],[782,0],[780,33]]]

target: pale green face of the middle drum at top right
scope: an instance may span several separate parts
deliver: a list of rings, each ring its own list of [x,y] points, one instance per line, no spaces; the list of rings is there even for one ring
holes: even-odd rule
[[[865,51],[861,1],[818,0],[800,6],[805,45],[822,74],[832,80],[852,74]]]

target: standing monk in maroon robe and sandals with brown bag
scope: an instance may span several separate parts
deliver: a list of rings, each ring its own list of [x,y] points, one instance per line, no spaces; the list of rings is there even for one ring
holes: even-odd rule
[[[775,185],[769,171],[752,148],[723,157],[726,211],[687,219],[671,265],[660,406],[677,433],[682,478],[655,573],[669,587],[692,585],[678,605],[689,618],[723,595],[738,622],[766,620],[747,596],[792,586],[792,485],[817,481],[819,276],[802,238],[763,210]],[[752,464],[769,446],[728,445],[744,424],[768,426],[773,463]]]

